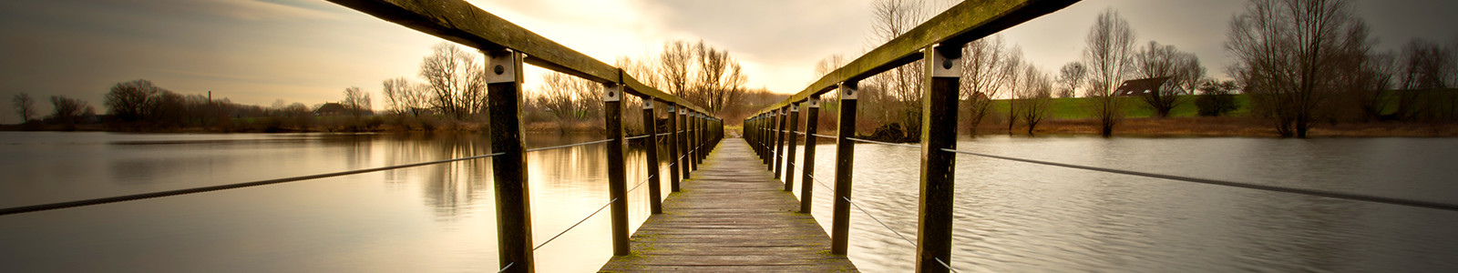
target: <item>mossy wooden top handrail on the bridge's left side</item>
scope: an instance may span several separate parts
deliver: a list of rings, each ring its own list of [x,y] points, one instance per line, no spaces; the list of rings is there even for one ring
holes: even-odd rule
[[[598,83],[623,83],[628,93],[674,102],[694,112],[709,113],[678,96],[663,93],[586,54],[547,39],[535,32],[497,17],[465,0],[330,0],[366,15],[399,23],[442,39],[483,51],[512,49],[541,68],[566,73]]]

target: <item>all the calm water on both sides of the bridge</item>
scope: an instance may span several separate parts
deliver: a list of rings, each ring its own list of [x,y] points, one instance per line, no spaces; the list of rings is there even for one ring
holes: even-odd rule
[[[529,147],[598,136],[531,136]],[[738,141],[738,139],[729,139]],[[959,148],[1060,163],[1458,202],[1458,139],[978,138]],[[486,154],[478,135],[0,132],[0,206]],[[819,147],[818,177],[833,148]],[[604,205],[602,145],[529,154],[535,241]],[[854,197],[916,235],[919,150],[857,145]],[[628,182],[642,182],[631,150]],[[666,170],[666,168],[665,168]],[[958,157],[961,272],[1454,272],[1458,212]],[[831,183],[828,179],[825,183]],[[815,216],[830,224],[828,189]],[[666,192],[666,187],[665,187]],[[798,193],[799,190],[796,190]],[[3,272],[490,272],[490,160],[0,216]],[[666,196],[666,195],[665,195]],[[636,228],[647,187],[630,193]],[[853,211],[850,257],[907,272],[913,247]],[[607,212],[537,253],[592,272]]]

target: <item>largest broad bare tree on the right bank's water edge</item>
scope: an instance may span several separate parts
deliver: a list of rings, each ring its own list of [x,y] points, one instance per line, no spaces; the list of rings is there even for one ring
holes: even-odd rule
[[[1250,0],[1231,20],[1225,46],[1252,110],[1271,118],[1282,136],[1305,138],[1318,110],[1344,89],[1337,77],[1350,68],[1337,64],[1372,44],[1366,33],[1347,0]]]

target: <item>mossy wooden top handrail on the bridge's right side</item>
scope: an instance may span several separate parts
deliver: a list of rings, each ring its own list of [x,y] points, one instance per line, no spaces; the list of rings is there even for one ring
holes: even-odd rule
[[[952,6],[917,25],[901,36],[891,39],[870,52],[860,55],[850,64],[825,74],[805,90],[792,94],[790,99],[770,105],[758,113],[784,107],[790,103],[805,102],[814,94],[821,94],[835,89],[844,81],[857,81],[886,70],[921,60],[921,48],[942,44],[961,48],[967,42],[997,33],[1018,23],[1032,20],[1038,16],[1057,12],[1079,0],[968,0]],[[961,52],[961,51],[958,51]],[[752,115],[751,115],[752,116]]]

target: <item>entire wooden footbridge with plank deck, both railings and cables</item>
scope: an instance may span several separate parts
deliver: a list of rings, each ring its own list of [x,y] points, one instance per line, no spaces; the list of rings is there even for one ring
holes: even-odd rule
[[[192,195],[203,192],[302,182],[334,176],[490,158],[497,209],[497,251],[500,272],[534,272],[532,251],[544,243],[532,241],[526,152],[563,148],[523,148],[521,126],[522,65],[534,64],[558,73],[604,84],[604,116],[608,139],[574,145],[607,144],[608,193],[612,218],[614,257],[602,272],[856,272],[846,257],[851,193],[853,142],[903,145],[921,150],[920,196],[917,206],[917,272],[951,272],[954,155],[967,154],[1031,164],[1120,173],[1163,180],[1191,182],[1268,192],[1379,202],[1416,208],[1458,211],[1458,205],[1368,196],[1312,189],[1293,189],[1251,183],[1150,174],[1127,170],[1073,166],[1038,160],[987,155],[956,150],[956,103],[961,62],[967,42],[996,33],[1018,23],[1067,7],[1077,0],[970,0],[932,17],[926,23],[876,46],[850,64],[821,77],[805,90],[774,103],[742,121],[744,138],[725,141],[723,119],[709,109],[646,86],[623,70],[579,54],[570,48],[522,29],[464,0],[331,0],[334,3],[395,22],[448,41],[474,46],[490,58],[487,99],[491,154],[449,158],[378,168],[302,177],[273,179],[181,190],[166,190],[114,197],[0,209],[0,215],[29,213],[112,202]],[[921,99],[920,145],[885,144],[854,138],[857,81],[916,61],[924,64],[926,89]],[[837,131],[818,134],[821,94],[835,91]],[[624,96],[642,97],[643,131],[625,136],[623,128]],[[803,110],[802,110],[803,107]],[[805,112],[802,119],[800,112]],[[805,123],[805,129],[800,129]],[[663,131],[663,132],[659,132]],[[658,177],[660,164],[644,164],[655,174],[649,186],[652,216],[631,237],[627,222],[627,183],[624,147],[628,139],[647,138],[649,163],[672,163],[669,177]],[[835,170],[831,232],[827,235],[809,215],[815,187],[802,186],[796,200],[789,190],[796,179],[808,183],[815,170],[818,138],[835,139]],[[805,142],[798,144],[803,139]],[[564,147],[574,147],[564,145]],[[659,158],[658,148],[666,148]],[[796,150],[803,155],[796,157]],[[799,166],[796,166],[796,163]],[[662,199],[660,183],[672,195]],[[642,183],[640,183],[642,184]],[[601,209],[599,209],[601,211]],[[593,213],[596,215],[596,213]],[[869,213],[868,213],[869,215]],[[590,218],[590,215],[589,215]],[[872,216],[875,219],[875,216]],[[576,227],[576,225],[573,225]],[[569,228],[567,231],[570,231]],[[567,232],[563,231],[563,232]],[[895,232],[892,229],[892,232]],[[558,234],[560,235],[560,234]],[[897,234],[898,237],[901,234]],[[555,238],[555,237],[553,237]]]

